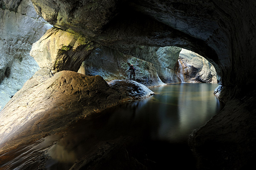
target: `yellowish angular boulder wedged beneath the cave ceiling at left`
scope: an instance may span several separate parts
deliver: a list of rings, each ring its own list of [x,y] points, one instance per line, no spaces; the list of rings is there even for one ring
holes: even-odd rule
[[[78,71],[95,45],[76,34],[52,28],[35,42],[30,51],[38,65],[54,71]]]

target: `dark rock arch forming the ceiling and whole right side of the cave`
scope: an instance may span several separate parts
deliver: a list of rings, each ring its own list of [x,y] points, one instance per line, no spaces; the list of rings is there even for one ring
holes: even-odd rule
[[[38,14],[56,28],[113,49],[119,49],[119,44],[175,45],[206,57],[215,66],[222,86],[216,94],[226,105],[191,136],[198,168],[243,169],[253,163],[256,153],[254,0],[32,0],[32,3]]]

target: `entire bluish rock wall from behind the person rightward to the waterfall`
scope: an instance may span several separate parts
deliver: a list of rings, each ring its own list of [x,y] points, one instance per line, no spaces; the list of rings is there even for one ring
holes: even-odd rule
[[[146,86],[165,85],[178,82],[175,65],[181,48],[177,47],[126,47],[121,51],[101,46],[86,59],[79,73],[100,75],[106,81],[130,79],[129,66],[136,68],[136,81]]]

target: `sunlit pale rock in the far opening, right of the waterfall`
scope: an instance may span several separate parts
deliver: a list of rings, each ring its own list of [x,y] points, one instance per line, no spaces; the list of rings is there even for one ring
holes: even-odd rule
[[[185,82],[217,83],[217,73],[213,65],[204,57],[182,49],[179,61],[183,67]]]

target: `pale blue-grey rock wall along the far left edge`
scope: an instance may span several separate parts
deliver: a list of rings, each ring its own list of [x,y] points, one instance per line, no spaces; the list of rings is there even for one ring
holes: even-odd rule
[[[49,25],[30,0],[0,2],[0,110],[39,69],[29,56],[32,43]]]

